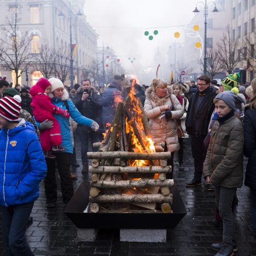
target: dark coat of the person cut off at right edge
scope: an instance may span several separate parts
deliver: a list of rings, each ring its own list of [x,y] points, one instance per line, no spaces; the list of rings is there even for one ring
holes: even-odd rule
[[[256,110],[252,109],[244,116],[244,155],[248,157],[244,184],[256,190]]]

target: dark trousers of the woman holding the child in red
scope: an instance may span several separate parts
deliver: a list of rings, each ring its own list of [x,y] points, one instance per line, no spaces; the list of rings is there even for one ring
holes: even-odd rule
[[[70,176],[71,153],[57,153],[56,163],[59,171],[63,203],[67,204],[74,195],[73,181]],[[47,159],[47,176],[45,178],[46,202],[57,201],[57,182],[55,159]]]

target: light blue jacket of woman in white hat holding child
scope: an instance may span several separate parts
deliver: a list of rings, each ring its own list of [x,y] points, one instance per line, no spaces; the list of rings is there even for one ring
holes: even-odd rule
[[[53,95],[49,95],[53,97]],[[82,116],[81,113],[78,111],[74,103],[69,99],[69,94],[66,90],[63,91],[62,98],[52,98],[52,103],[56,106],[59,106],[63,110],[67,110],[65,101],[67,100],[68,107],[69,107],[69,114],[73,118],[73,120],[81,125],[92,126],[94,120]],[[69,118],[65,118],[61,115],[54,114],[53,115],[56,120],[59,122],[60,126],[60,134],[61,134],[61,146],[66,148],[66,153],[73,153],[73,145],[72,145],[72,136],[69,126]]]

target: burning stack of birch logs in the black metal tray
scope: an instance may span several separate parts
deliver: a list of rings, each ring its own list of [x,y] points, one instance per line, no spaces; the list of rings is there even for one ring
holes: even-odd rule
[[[161,144],[155,145],[154,152],[149,150],[148,121],[142,105],[137,103],[140,111],[134,111],[131,99],[118,103],[104,140],[94,143],[98,152],[87,154],[92,159],[89,212],[172,212],[170,187],[174,181],[166,179],[166,173],[172,172],[172,167],[167,166],[170,152],[163,152]],[[131,127],[127,127],[129,121]],[[143,160],[142,166],[137,166],[138,160]]]

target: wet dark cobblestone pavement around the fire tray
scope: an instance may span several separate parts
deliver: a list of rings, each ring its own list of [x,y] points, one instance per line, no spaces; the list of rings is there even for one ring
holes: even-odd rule
[[[76,227],[63,213],[64,205],[58,190],[57,207],[47,209],[45,206],[44,184],[40,185],[40,197],[35,202],[31,216],[33,224],[28,227],[26,235],[35,255],[215,255],[210,245],[222,239],[222,230],[212,225],[215,215],[214,193],[205,186],[186,188],[185,182],[193,177],[194,167],[188,139],[184,150],[184,171],[178,171],[175,160],[174,180],[185,204],[187,215],[175,229],[167,230],[166,243],[129,243],[119,242],[119,230],[99,230],[95,242],[78,242]],[[80,161],[79,143],[77,160]],[[245,161],[246,165],[246,161]],[[81,164],[75,170],[78,179],[74,180],[75,189],[82,182]],[[248,255],[252,240],[250,218],[249,189],[238,189],[236,206],[236,239],[238,252],[234,255]],[[157,217],[156,217],[157,218]],[[86,220],[84,220],[86,221]],[[136,220],[135,220],[136,221]],[[2,235],[0,234],[0,255],[5,255]]]

